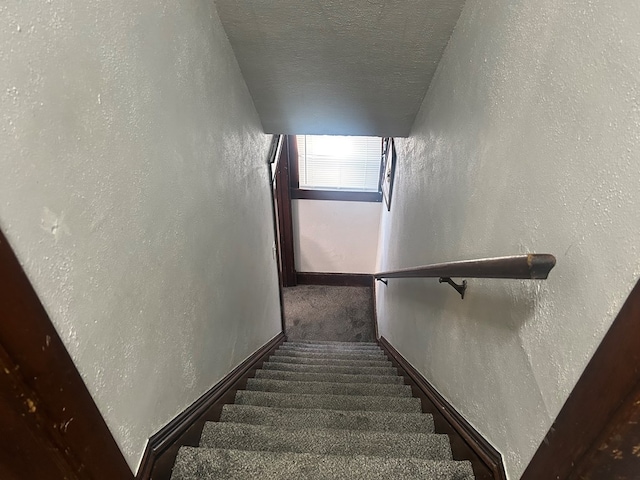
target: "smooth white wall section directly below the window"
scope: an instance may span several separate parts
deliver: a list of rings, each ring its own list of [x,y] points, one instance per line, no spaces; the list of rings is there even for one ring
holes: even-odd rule
[[[381,203],[292,200],[296,271],[374,273]]]

